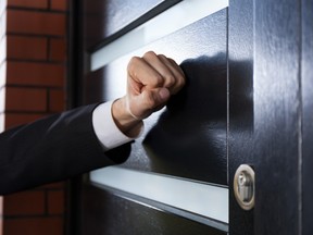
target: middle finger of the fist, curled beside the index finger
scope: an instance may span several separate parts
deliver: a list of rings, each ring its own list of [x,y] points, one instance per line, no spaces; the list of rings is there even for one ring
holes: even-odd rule
[[[143,54],[143,60],[150,64],[159,74],[163,77],[163,87],[170,88],[173,87],[176,83],[175,75],[172,73],[172,70],[164,63],[159,55],[154,52],[149,51]]]

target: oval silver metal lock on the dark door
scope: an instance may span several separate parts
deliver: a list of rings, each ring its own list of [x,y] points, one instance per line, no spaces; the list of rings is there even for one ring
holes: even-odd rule
[[[243,210],[251,210],[254,207],[255,176],[250,165],[241,164],[237,169],[234,177],[234,193]]]

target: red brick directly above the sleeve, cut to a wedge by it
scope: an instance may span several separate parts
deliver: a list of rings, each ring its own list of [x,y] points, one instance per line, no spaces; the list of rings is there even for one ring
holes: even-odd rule
[[[43,114],[29,114],[29,113],[5,113],[5,128],[11,128],[17,125],[30,123],[35,120],[43,118]]]

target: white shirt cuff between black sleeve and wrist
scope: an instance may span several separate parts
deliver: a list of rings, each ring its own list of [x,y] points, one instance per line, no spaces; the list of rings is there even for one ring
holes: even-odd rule
[[[104,150],[113,149],[133,140],[116,126],[111,111],[113,102],[99,104],[92,113],[93,129]]]

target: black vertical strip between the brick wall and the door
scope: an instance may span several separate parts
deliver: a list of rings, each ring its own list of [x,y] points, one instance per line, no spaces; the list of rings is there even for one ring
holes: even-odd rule
[[[83,1],[68,0],[67,17],[67,109],[83,103]],[[64,233],[66,235],[82,234],[82,178],[73,177],[66,185],[66,211]]]

